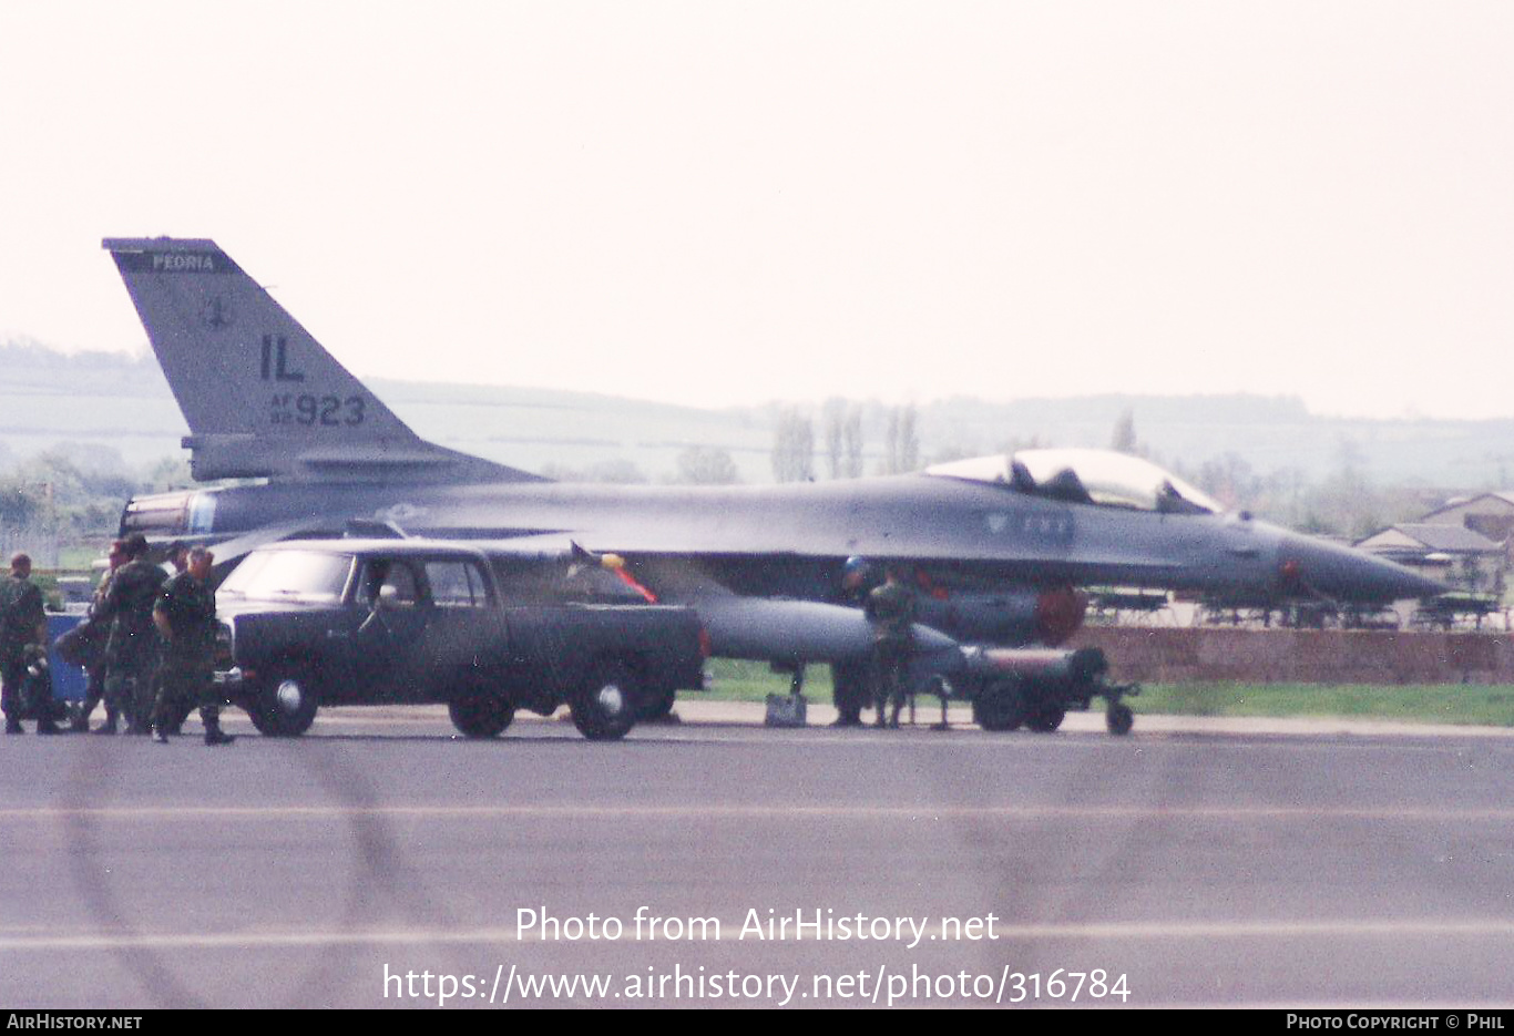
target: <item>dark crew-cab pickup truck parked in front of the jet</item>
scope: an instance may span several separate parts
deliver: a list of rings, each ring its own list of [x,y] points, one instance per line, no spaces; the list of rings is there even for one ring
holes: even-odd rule
[[[516,709],[566,703],[595,741],[624,736],[678,689],[702,688],[704,635],[684,607],[512,598],[483,550],[322,539],[250,553],[217,591],[218,676],[269,736],[322,704],[444,703],[469,738]]]

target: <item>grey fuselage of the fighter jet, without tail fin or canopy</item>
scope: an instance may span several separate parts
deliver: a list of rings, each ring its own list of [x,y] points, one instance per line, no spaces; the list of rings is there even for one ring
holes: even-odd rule
[[[633,560],[698,562],[737,594],[804,600],[836,598],[851,556],[913,562],[957,588],[1096,583],[1261,595],[1279,591],[1284,548],[1307,539],[1235,515],[1064,503],[925,474],[780,486],[233,486],[139,498],[123,527],[224,541],[265,527],[333,535],[348,520],[439,538],[562,535]],[[1361,576],[1376,573],[1373,559],[1350,553]],[[1323,589],[1344,600],[1399,592],[1379,582]]]

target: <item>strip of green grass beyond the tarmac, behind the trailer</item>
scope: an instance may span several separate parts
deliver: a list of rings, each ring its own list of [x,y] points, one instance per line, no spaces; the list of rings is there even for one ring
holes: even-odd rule
[[[762,701],[789,689],[789,677],[760,662],[712,659],[709,697],[721,701]],[[831,700],[830,668],[810,666],[804,694]],[[922,700],[922,704],[934,698]],[[1131,707],[1146,715],[1190,716],[1354,716],[1402,722],[1514,727],[1514,686],[1316,686],[1301,683],[1151,685]]]

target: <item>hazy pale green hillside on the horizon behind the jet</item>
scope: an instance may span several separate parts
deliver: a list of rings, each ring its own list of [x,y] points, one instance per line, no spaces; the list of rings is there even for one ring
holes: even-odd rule
[[[180,456],[188,429],[150,357],[64,354],[33,342],[0,345],[0,462],[70,441],[114,450],[139,467]],[[619,397],[510,386],[372,382],[421,436],[492,460],[589,471],[630,462],[648,480],[672,479],[689,445],[730,451],[745,482],[772,479],[780,406],[699,409]],[[860,403],[869,470],[883,451],[889,407]],[[824,435],[816,415],[816,441]],[[1310,413],[1296,398],[1079,397],[990,403],[967,397],[919,407],[921,456],[972,456],[1011,444],[1108,445],[1134,413],[1148,450],[1196,470],[1222,454],[1254,471],[1296,470],[1316,480],[1350,456],[1378,485],[1485,489],[1514,485],[1514,420],[1369,421]],[[816,456],[816,470],[825,473]]]

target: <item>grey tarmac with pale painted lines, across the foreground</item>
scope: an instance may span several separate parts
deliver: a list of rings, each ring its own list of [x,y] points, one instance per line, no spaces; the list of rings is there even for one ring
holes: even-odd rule
[[[1514,1003],[1511,732],[678,715],[5,738],[0,1003]]]

